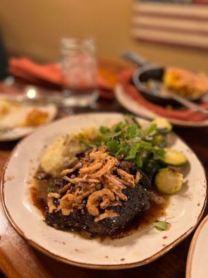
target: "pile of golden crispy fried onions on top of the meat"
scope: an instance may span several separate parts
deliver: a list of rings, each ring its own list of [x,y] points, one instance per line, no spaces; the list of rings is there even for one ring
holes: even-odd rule
[[[69,215],[74,208],[87,208],[96,222],[118,216],[112,207],[128,200],[122,190],[127,186],[134,188],[141,174],[132,175],[119,168],[118,159],[106,154],[106,150],[105,146],[93,149],[76,165],[62,172],[68,183],[59,193],[49,193],[49,213],[61,211],[62,215]],[[58,199],[58,206],[54,199]]]

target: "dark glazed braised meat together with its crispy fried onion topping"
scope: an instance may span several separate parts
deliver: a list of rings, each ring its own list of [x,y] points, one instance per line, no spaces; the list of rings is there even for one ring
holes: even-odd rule
[[[106,148],[92,150],[64,170],[62,188],[49,193],[46,223],[55,229],[111,235],[149,208],[148,178],[125,168]]]

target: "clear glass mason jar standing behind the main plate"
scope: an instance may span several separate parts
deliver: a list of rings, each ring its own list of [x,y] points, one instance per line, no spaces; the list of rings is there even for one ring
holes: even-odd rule
[[[88,106],[98,97],[94,40],[64,38],[61,54],[64,95],[76,99],[78,106]]]

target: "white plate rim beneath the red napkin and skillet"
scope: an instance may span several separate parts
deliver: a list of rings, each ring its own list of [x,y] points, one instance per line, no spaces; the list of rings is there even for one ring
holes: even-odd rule
[[[123,106],[125,109],[130,111],[131,113],[134,113],[137,116],[144,117],[148,120],[153,120],[155,117],[159,117],[156,113],[153,111],[150,111],[148,108],[139,105],[135,99],[132,99],[125,90],[123,89],[121,84],[116,85],[116,88],[114,90],[116,99],[119,101],[121,106]],[[171,118],[168,118],[168,121],[172,124],[175,124],[177,126],[187,126],[187,127],[200,127],[200,126],[208,126],[208,120],[202,121],[202,122],[187,122],[182,120],[174,120]]]

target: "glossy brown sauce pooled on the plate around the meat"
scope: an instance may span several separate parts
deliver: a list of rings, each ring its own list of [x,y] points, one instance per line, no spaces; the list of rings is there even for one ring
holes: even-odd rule
[[[60,184],[61,180],[55,180],[51,177],[46,179],[37,179],[37,177],[38,172],[34,178],[33,187],[31,187],[31,197],[34,206],[36,206],[42,212],[42,215],[45,216],[46,197],[49,193],[48,188],[53,188],[53,192],[57,192],[59,189],[58,185]],[[155,204],[155,202],[150,202],[150,208],[148,211],[142,213],[142,215],[138,215],[138,217],[134,218],[123,229],[116,231],[112,236],[98,236],[98,238],[101,238],[101,240],[105,240],[105,238],[123,238],[125,236],[129,236],[135,231],[140,231],[149,227],[151,224],[153,224],[153,222],[156,222],[158,218],[166,216],[165,211],[166,207],[168,206],[168,197],[165,197],[165,199],[166,202],[163,206]],[[78,234],[80,235],[80,233]]]

